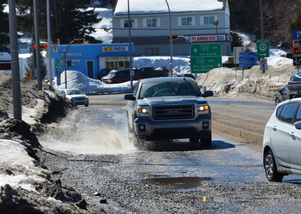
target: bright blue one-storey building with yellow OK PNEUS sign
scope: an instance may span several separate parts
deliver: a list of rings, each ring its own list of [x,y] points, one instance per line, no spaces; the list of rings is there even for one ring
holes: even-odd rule
[[[61,53],[64,53],[68,45],[57,45]],[[132,49],[132,62],[134,60],[134,45]],[[64,58],[59,52],[54,53],[54,48],[51,48],[51,58],[54,60],[54,65],[62,64],[61,72],[64,68]],[[97,74],[103,68],[122,69],[129,68],[129,43],[112,43],[112,44],[72,44],[70,45],[67,60],[71,60],[71,66],[66,70],[79,71],[91,79],[97,79]],[[56,68],[54,75],[56,75]]]

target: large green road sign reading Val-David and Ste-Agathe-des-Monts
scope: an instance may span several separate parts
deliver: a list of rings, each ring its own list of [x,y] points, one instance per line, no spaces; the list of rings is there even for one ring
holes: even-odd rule
[[[191,73],[207,73],[222,67],[222,45],[220,43],[190,45]]]

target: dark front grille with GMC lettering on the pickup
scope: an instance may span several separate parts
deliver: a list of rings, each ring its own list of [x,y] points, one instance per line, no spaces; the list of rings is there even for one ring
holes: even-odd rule
[[[194,118],[194,105],[154,106],[153,118],[163,119],[192,119]]]

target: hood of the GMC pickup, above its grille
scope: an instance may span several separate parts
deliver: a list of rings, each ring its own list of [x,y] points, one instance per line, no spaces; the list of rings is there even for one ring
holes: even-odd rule
[[[171,103],[171,102],[197,102],[197,104],[207,103],[206,99],[203,97],[196,96],[170,96],[170,97],[149,97],[139,99],[138,105],[149,105],[154,103]]]

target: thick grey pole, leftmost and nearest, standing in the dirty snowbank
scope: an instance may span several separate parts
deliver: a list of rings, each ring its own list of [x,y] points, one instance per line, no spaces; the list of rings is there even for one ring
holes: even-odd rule
[[[8,1],[14,119],[22,120],[16,0]]]

